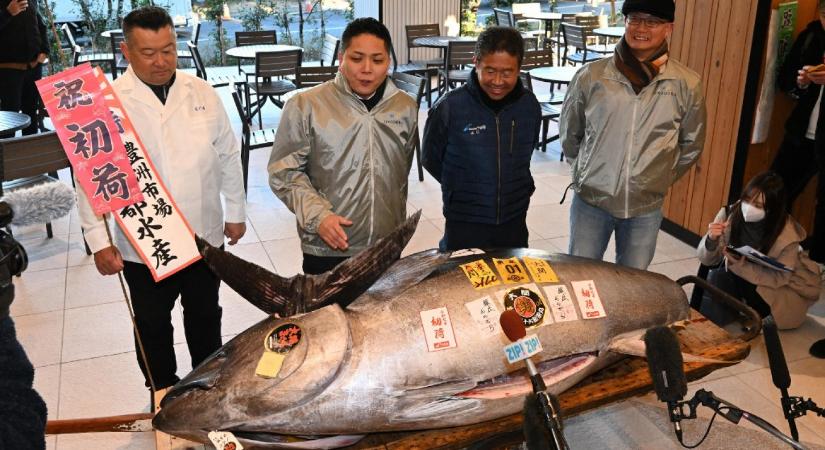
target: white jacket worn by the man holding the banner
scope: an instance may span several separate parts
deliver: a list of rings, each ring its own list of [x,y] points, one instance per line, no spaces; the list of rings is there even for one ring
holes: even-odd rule
[[[223,245],[224,222],[246,220],[246,199],[240,145],[215,90],[178,71],[164,105],[131,67],[112,86],[192,230],[214,246]],[[92,252],[111,245],[103,218],[94,214],[86,196],[78,195],[77,203]],[[142,262],[120,227],[114,228],[123,259]]]

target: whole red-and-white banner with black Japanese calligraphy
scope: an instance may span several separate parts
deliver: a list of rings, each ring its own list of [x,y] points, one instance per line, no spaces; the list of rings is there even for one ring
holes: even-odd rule
[[[108,193],[109,198],[122,194],[122,189],[129,190],[131,201],[109,202],[108,210],[94,211],[96,214],[112,211],[115,221],[155,281],[198,261],[200,253],[189,223],[158,176],[120,100],[100,69],[93,69],[88,64],[77,66],[38,81],[38,89],[93,208],[99,201],[96,198],[104,195],[99,190]],[[71,108],[62,105],[71,105]],[[102,141],[103,132],[100,132],[98,144],[111,142],[113,147],[110,152],[98,151],[98,155],[105,155],[100,162],[90,162],[76,155],[83,154],[78,150],[77,142],[86,139],[85,146],[94,146],[90,136],[81,138],[76,136],[77,131],[73,133],[75,129],[83,131],[87,126],[82,120],[85,116],[104,124],[110,140]],[[104,177],[103,181],[99,180]],[[99,187],[101,184],[102,188]]]

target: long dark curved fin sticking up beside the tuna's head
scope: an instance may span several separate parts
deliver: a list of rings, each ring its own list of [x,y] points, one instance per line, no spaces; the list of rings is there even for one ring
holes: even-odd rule
[[[287,317],[333,302],[346,306],[355,300],[398,260],[420,217],[421,211],[416,212],[392,233],[322,275],[284,278],[199,237],[196,241],[204,261],[218,278],[261,311]]]

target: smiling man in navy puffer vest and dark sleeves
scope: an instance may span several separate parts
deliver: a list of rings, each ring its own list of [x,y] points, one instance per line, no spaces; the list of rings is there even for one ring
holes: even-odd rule
[[[516,30],[488,28],[478,37],[469,81],[430,110],[423,161],[441,183],[442,251],[527,247],[541,110],[521,84],[523,57]]]

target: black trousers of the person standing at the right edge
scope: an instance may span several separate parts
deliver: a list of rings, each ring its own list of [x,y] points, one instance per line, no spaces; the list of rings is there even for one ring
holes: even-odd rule
[[[809,242],[811,259],[825,263],[825,149],[817,149],[811,139],[786,134],[771,170],[785,182],[789,208],[811,178],[821,175],[816,185],[814,230]]]

